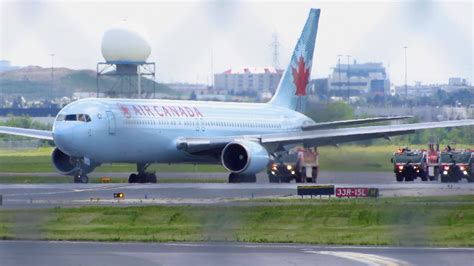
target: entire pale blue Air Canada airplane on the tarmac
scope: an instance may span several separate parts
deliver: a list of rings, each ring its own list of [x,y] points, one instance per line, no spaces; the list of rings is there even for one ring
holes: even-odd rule
[[[320,9],[311,9],[291,62],[267,103],[157,99],[81,99],[65,106],[52,131],[0,127],[0,133],[52,140],[52,163],[74,182],[102,163],[132,163],[129,183],[156,183],[153,163],[211,163],[227,169],[230,183],[255,182],[271,156],[303,145],[315,147],[416,130],[474,125],[474,120],[359,126],[407,117],[316,123],[302,112],[310,80]]]

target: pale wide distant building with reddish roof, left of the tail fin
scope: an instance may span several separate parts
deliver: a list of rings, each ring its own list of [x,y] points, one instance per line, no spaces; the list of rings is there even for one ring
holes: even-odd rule
[[[275,92],[282,69],[274,67],[245,67],[214,74],[214,87],[234,93]]]

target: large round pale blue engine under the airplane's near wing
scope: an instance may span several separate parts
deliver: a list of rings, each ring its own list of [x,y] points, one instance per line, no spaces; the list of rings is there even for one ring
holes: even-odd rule
[[[227,144],[222,150],[222,165],[236,174],[253,175],[267,167],[269,162],[267,150],[252,141],[235,141]]]

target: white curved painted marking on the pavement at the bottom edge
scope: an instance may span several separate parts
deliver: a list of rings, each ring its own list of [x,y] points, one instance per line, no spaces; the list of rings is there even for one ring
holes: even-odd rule
[[[410,265],[406,261],[397,260],[389,257],[359,253],[359,252],[347,252],[347,251],[305,251],[307,253],[319,254],[319,255],[330,255],[357,261],[370,266],[408,266]]]

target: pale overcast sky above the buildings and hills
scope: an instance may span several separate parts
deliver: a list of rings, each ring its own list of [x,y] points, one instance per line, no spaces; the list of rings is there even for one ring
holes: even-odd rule
[[[210,83],[232,67],[271,66],[272,34],[286,67],[310,8],[321,8],[312,78],[337,55],[382,62],[395,84],[474,79],[473,1],[10,1],[0,0],[0,59],[95,69],[103,33],[142,25],[161,82]],[[347,62],[346,57],[342,59]]]

